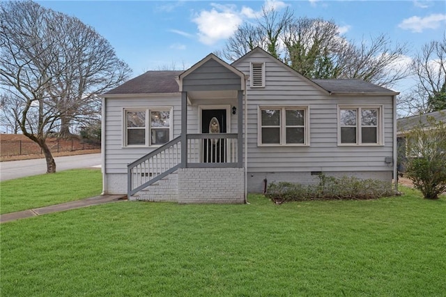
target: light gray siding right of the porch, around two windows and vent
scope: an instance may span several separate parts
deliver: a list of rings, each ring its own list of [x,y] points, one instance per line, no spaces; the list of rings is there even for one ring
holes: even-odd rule
[[[261,52],[253,52],[233,66],[249,74],[250,62],[266,62],[266,86],[247,82],[247,172],[361,172],[392,171],[392,96],[335,96]],[[258,146],[259,106],[307,106],[309,146]],[[384,146],[338,146],[338,105],[383,107]]]

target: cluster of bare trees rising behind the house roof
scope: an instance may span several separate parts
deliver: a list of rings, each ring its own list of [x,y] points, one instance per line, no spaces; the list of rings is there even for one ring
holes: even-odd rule
[[[332,21],[263,9],[256,24],[242,24],[227,40],[223,53],[235,61],[259,46],[309,78],[358,78],[390,87],[407,77],[407,67],[399,65],[406,45],[384,34],[357,44],[339,32]]]

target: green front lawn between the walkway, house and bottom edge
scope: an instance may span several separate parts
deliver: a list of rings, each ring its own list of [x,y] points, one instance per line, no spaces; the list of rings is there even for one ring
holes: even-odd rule
[[[116,202],[1,224],[1,296],[445,296],[446,199]]]

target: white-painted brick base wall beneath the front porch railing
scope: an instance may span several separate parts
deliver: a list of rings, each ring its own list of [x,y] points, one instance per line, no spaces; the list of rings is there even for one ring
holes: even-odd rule
[[[243,204],[243,168],[178,169],[178,203]]]

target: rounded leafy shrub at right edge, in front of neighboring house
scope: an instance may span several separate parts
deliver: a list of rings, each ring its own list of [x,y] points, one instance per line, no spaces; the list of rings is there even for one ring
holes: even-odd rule
[[[406,175],[426,199],[438,199],[446,191],[446,124],[427,119],[406,135]]]

